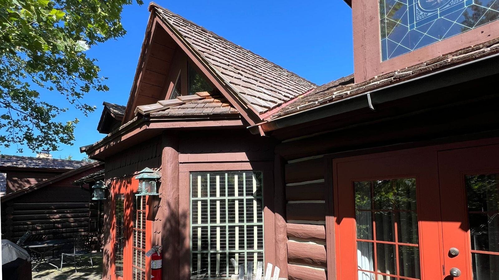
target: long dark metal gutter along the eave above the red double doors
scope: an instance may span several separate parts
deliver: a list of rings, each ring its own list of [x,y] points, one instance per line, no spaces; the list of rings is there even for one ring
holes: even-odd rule
[[[410,80],[374,89],[359,95],[347,97],[304,111],[295,112],[293,114],[267,120],[256,125],[249,126],[247,128],[252,134],[262,135],[265,132],[287,128],[327,117],[341,115],[359,109],[370,108],[374,111],[376,109],[376,105],[378,104],[395,101],[398,99],[425,93],[430,90],[439,89],[465,81],[471,81],[493,74],[498,74],[498,57],[499,53],[496,53],[487,57],[482,57],[473,61],[465,62],[446,69],[422,75]],[[456,71],[461,70],[461,68],[465,69],[462,69],[462,71],[459,72]],[[439,75],[442,76],[442,74],[448,74],[452,71],[455,71],[456,73],[451,80],[439,78]],[[420,82],[418,86],[412,85],[413,82],[417,81]]]

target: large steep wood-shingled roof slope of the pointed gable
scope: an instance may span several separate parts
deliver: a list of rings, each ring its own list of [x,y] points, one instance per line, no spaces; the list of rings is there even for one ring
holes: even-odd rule
[[[314,83],[158,6],[159,18],[182,36],[217,74],[258,113],[317,87]]]

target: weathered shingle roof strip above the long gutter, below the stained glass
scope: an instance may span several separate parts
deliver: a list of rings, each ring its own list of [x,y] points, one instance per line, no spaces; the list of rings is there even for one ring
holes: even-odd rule
[[[437,70],[473,61],[494,53],[499,53],[499,38],[450,52],[414,66],[388,72],[361,83],[353,83],[352,75],[343,77],[320,86],[301,98],[296,98],[295,101],[277,111],[270,121],[278,117],[363,94],[374,89],[411,80],[429,72],[436,72]]]

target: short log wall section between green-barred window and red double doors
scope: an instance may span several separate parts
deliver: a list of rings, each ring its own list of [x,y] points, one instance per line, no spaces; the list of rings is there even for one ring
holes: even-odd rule
[[[284,174],[288,279],[326,280],[324,159],[290,161]]]

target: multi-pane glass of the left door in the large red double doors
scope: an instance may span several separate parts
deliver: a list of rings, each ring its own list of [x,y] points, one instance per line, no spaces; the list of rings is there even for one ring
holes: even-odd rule
[[[354,182],[359,280],[421,279],[416,179]]]

